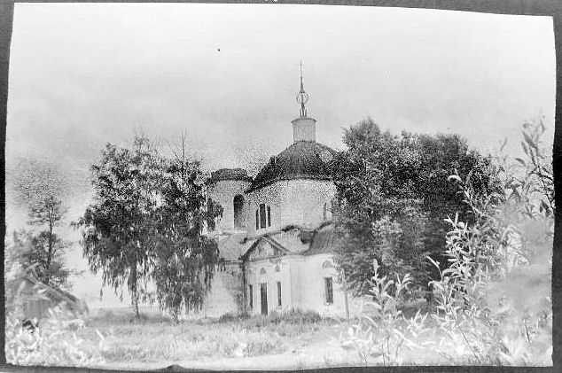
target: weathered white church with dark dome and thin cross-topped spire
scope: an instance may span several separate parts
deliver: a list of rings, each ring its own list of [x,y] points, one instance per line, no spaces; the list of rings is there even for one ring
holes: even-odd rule
[[[221,259],[207,315],[293,308],[341,317],[356,312],[333,262],[336,188],[328,165],[335,152],[316,142],[302,76],[297,102],[293,144],[254,178],[242,168],[222,168],[210,177],[209,197],[223,211],[210,232]]]

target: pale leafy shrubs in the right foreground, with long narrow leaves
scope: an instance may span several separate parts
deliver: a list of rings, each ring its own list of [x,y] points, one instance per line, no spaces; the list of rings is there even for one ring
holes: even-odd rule
[[[554,210],[549,201],[553,201],[553,189],[548,183],[550,164],[536,156],[540,153],[540,136],[531,136],[544,132],[542,123],[534,126],[527,124],[523,133],[525,144],[535,149],[534,155],[527,152],[528,158],[538,160],[536,163],[533,159],[518,160],[525,171],[519,175],[527,175],[525,183],[511,174],[512,168],[506,165],[505,158],[494,168],[496,180],[503,181],[503,189],[511,192],[482,194],[475,190],[470,174],[464,178],[458,174],[449,177],[470,208],[472,223],[459,220],[459,214],[455,219],[446,219],[449,224],[444,252],[447,265],[442,268],[438,261],[429,258],[439,272],[438,278],[429,283],[435,297],[435,311],[418,313],[408,319],[391,310],[392,322],[375,322],[380,317],[379,310],[384,309],[385,299],[394,296],[388,293],[381,298],[380,294],[384,294],[381,286],[384,290],[390,283],[386,277],[373,278],[375,318],[370,316],[371,311],[364,317],[368,321],[366,325],[354,325],[343,346],[354,348],[364,362],[374,363],[551,363],[548,274]],[[529,163],[533,166],[528,167]],[[542,198],[533,198],[532,193]],[[541,208],[542,204],[547,206]],[[384,346],[381,336],[387,336],[387,346],[406,347],[400,351],[408,350],[408,354],[400,354],[395,348],[386,352],[396,354],[382,355],[381,351],[385,350],[381,348]],[[420,353],[437,361],[417,361]],[[391,359],[372,360],[379,355]]]

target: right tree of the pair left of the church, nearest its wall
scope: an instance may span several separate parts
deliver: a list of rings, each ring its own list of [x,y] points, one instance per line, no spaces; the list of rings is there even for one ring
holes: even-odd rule
[[[218,247],[204,232],[222,213],[206,197],[199,161],[186,158],[183,144],[180,154],[161,163],[152,273],[160,308],[175,320],[182,309],[199,311],[203,305],[218,262]]]

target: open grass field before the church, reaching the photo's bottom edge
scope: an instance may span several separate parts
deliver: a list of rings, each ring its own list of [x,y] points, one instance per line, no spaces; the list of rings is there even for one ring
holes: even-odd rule
[[[172,324],[157,309],[135,321],[121,308],[92,312],[77,336],[98,349],[104,368],[305,369],[358,364],[340,347],[346,330],[347,322],[311,312]]]

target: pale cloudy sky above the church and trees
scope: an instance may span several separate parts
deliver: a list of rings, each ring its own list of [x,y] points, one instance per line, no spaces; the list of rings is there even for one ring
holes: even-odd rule
[[[455,132],[481,152],[519,152],[526,120],[552,137],[552,19],[287,4],[16,4],[6,140],[6,223],[25,226],[17,185],[51,169],[67,223],[90,202],[90,165],[136,132],[186,144],[207,170],[255,172],[293,141],[300,61],[316,140],[343,128]],[[24,177],[24,178],[25,178]],[[78,245],[73,268],[87,268]],[[77,280],[77,294],[99,290]],[[110,291],[105,291],[108,293]],[[106,297],[105,297],[106,298]]]

